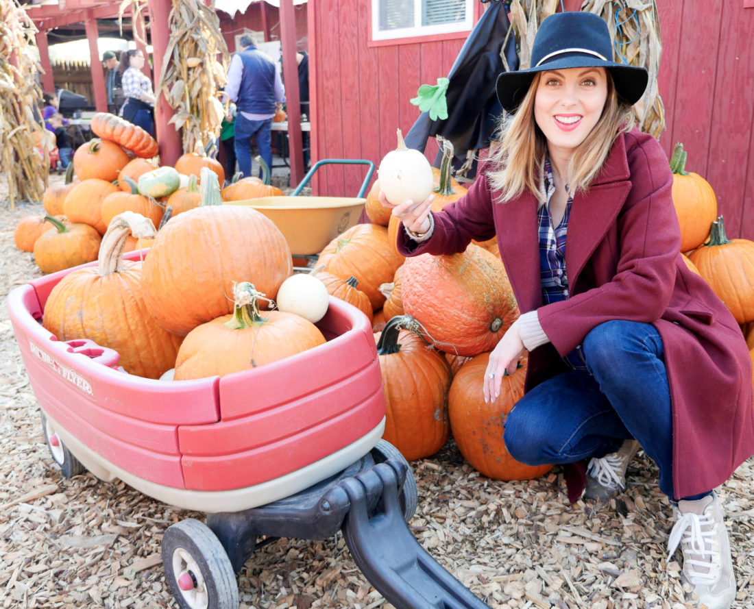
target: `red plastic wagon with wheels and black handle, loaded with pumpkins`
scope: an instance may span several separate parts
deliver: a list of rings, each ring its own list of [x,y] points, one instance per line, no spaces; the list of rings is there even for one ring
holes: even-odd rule
[[[44,436],[63,476],[89,470],[207,513],[206,524],[186,519],[164,531],[164,570],[181,609],[238,609],[235,574],[255,549],[337,531],[398,609],[486,607],[406,526],[416,484],[380,439],[382,377],[357,308],[331,298],[318,323],[326,343],[268,366],[152,380],[124,372],[112,349],[57,341],[41,326],[51,289],[73,270],[17,287],[7,300]]]

